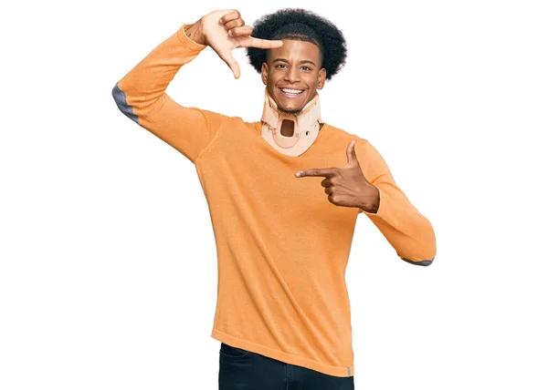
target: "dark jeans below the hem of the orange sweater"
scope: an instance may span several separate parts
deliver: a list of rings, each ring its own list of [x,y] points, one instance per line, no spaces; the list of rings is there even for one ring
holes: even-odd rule
[[[219,390],[354,390],[353,376],[333,376],[221,343]]]

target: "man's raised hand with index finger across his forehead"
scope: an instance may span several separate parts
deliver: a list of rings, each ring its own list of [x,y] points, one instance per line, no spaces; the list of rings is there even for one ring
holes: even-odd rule
[[[245,26],[236,9],[214,11],[198,20],[186,30],[186,35],[195,42],[210,46],[230,67],[235,78],[240,77],[237,60],[232,50],[237,47],[275,48],[283,45],[280,40],[258,39],[251,36],[253,27]]]

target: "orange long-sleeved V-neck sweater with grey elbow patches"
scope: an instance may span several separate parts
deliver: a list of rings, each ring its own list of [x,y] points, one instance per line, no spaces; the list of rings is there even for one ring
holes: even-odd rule
[[[344,273],[356,218],[366,214],[416,264],[436,254],[430,222],[407,200],[366,139],[325,123],[299,157],[261,137],[261,122],[185,108],[165,94],[177,71],[206,47],[184,25],[116,84],[121,111],[195,164],[215,234],[216,340],[327,375],[354,374],[351,313]],[[260,113],[259,113],[260,114]],[[327,200],[323,178],[300,169],[344,167],[355,151],[380,191],[375,214]]]

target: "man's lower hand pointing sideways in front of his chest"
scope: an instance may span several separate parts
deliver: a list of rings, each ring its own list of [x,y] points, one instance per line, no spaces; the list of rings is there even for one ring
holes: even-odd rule
[[[298,178],[321,176],[321,186],[328,194],[327,200],[336,206],[359,207],[368,212],[379,208],[379,190],[364,177],[353,140],[346,148],[348,164],[344,168],[311,168],[295,173]]]

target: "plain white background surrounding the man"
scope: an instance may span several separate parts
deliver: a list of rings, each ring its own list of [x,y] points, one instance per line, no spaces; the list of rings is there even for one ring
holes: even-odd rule
[[[545,2],[259,4],[3,5],[0,388],[216,390],[216,248],[195,167],[111,89],[184,23],[286,6],[342,29],[323,118],[374,144],[437,233],[420,267],[359,216],[356,389],[548,388]],[[168,93],[257,120],[264,86],[234,54],[240,79],[207,48]]]

